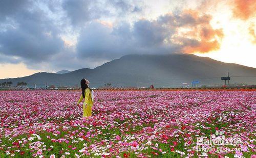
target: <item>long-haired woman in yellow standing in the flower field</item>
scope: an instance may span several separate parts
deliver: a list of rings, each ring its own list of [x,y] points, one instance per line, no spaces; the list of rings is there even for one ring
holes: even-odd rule
[[[82,95],[77,102],[77,106],[79,106],[79,103],[84,98],[84,102],[82,105],[82,109],[83,109],[82,117],[92,116],[92,106],[93,106],[94,100],[93,100],[93,91],[88,86],[89,83],[90,82],[88,80],[82,78],[82,80],[81,80]]]

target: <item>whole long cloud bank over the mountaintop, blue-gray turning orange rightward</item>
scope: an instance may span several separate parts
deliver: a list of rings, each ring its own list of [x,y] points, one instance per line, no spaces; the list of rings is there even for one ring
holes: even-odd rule
[[[78,56],[113,59],[126,54],[168,54],[209,52],[220,48],[224,34],[213,29],[211,16],[194,10],[168,13],[156,20],[141,19],[132,25],[111,28],[94,21],[80,33]]]

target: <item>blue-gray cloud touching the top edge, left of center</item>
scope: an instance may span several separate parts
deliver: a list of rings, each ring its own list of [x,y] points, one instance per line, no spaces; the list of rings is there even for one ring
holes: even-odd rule
[[[142,11],[138,5],[132,4],[130,1],[125,0],[64,0],[62,8],[73,27],[81,27],[86,22],[100,19],[101,17],[124,16]]]

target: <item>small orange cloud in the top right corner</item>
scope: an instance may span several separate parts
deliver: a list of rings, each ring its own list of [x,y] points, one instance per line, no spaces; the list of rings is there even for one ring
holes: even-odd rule
[[[256,14],[256,0],[235,0],[233,16],[247,20]]]

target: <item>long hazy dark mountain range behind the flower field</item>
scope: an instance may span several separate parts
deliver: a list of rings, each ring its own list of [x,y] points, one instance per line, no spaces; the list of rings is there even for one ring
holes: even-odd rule
[[[189,54],[170,55],[127,55],[107,62],[94,69],[83,68],[69,73],[40,72],[26,77],[8,78],[11,81],[26,82],[28,86],[50,85],[79,86],[81,78],[88,78],[91,87],[102,87],[111,83],[113,87],[181,87],[199,80],[200,85],[223,85],[222,76],[231,76],[230,84],[256,84],[256,68],[238,64],[223,63],[207,57]],[[246,77],[241,77],[246,76]]]

